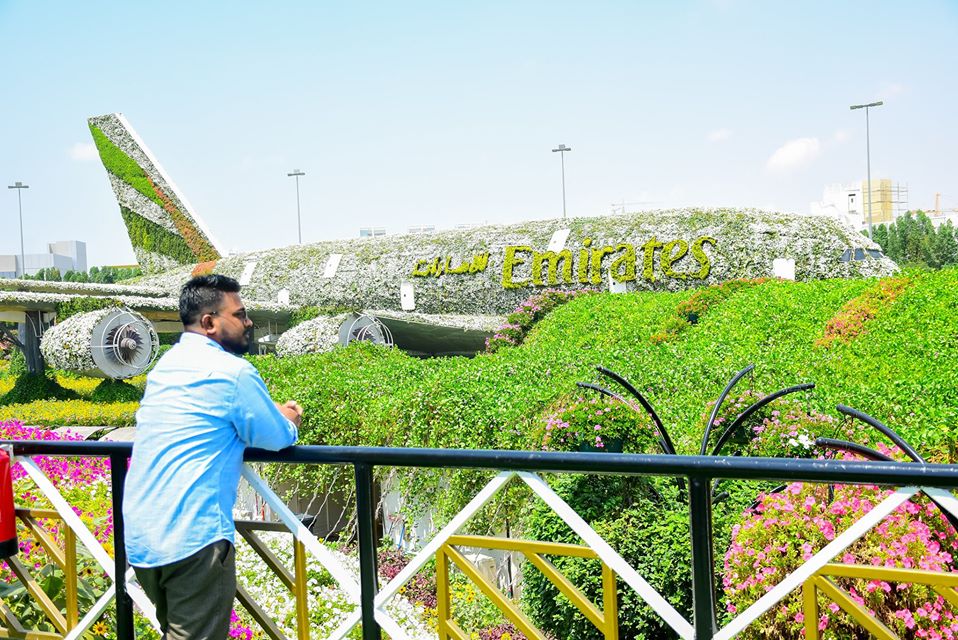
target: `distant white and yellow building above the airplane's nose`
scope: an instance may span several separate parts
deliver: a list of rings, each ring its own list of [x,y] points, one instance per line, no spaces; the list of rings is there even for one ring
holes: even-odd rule
[[[811,203],[812,215],[839,218],[855,229],[868,228],[868,183],[832,184],[825,187],[821,202]],[[871,182],[871,223],[889,224],[908,210],[908,187],[889,178]]]

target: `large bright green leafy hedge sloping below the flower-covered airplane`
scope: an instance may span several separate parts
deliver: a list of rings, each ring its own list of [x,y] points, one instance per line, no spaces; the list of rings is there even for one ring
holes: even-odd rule
[[[651,336],[693,292],[585,296],[516,349],[419,360],[361,344],[328,354],[254,358],[277,400],[304,404],[307,443],[535,449],[542,415],[606,382],[605,365],[653,403],[680,452],[697,448],[708,402],[747,364],[741,387],[769,393],[815,382],[809,407],[870,413],[938,461],[956,459],[958,269],[912,274],[912,284],[847,345],[815,346],[842,306],[873,281],[770,281],[744,288],[673,340]]]

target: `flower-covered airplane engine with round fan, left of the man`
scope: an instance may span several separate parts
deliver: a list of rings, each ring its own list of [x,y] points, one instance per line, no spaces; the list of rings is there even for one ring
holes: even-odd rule
[[[56,369],[122,380],[143,373],[156,359],[159,338],[149,320],[113,307],[81,313],[43,335],[40,351]]]

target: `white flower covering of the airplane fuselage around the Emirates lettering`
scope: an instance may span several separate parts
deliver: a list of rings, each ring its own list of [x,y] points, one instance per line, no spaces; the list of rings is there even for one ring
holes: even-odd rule
[[[841,277],[887,276],[897,269],[882,257],[841,262],[846,249],[879,249],[863,235],[835,218],[797,216],[754,210],[672,210],[627,216],[543,220],[514,225],[448,231],[427,235],[386,236],[320,242],[229,256],[219,260],[215,271],[239,278],[249,262],[256,262],[250,283],[244,287],[249,300],[276,300],[288,290],[295,305],[336,306],[345,309],[401,309],[400,286],[412,283],[418,313],[503,314],[544,287],[506,289],[502,284],[505,247],[528,246],[545,251],[552,234],[569,229],[565,248],[577,255],[585,239],[591,246],[629,243],[639,247],[655,237],[660,242],[697,237],[716,238],[705,249],[711,271],[705,280],[661,277],[656,253],[656,280],[642,277],[627,283],[628,290],[676,291],[705,286],[734,278],[771,277],[775,258],[792,258],[798,280]],[[414,277],[419,261],[440,258],[459,265],[474,256],[488,253],[488,266],[478,273]],[[329,257],[341,254],[338,270],[325,277]],[[680,263],[688,271],[691,256]],[[528,269],[524,265],[523,269]],[[184,267],[158,276],[146,277],[144,284],[172,290],[189,278]],[[580,289],[584,285],[560,284],[553,288]],[[605,286],[603,283],[602,286]]]

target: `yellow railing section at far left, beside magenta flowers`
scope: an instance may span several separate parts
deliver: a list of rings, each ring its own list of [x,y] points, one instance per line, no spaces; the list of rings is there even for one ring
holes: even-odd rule
[[[34,578],[30,569],[16,556],[5,560],[7,567],[30,594],[37,606],[43,612],[46,620],[56,631],[27,629],[7,603],[0,601],[0,638],[24,638],[25,640],[56,640],[70,633],[79,623],[79,606],[77,604],[77,541],[73,531],[60,519],[59,514],[52,509],[24,509],[16,510],[17,518],[23,524],[30,541],[39,545],[46,552],[50,560],[63,572],[65,604],[63,611],[44,592]],[[57,543],[53,535],[46,530],[40,520],[48,523],[55,522],[63,533],[63,547]]]

